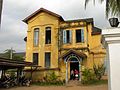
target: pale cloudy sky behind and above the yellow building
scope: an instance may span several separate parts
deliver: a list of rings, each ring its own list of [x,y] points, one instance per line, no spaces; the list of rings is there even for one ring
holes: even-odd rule
[[[105,2],[89,2],[85,9],[84,0],[3,0],[0,30],[0,53],[11,47],[24,52],[27,24],[22,20],[42,8],[61,15],[64,20],[93,18],[96,27],[110,27],[105,17]]]

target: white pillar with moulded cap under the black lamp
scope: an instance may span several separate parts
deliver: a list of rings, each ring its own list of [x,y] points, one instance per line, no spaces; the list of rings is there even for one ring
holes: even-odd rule
[[[107,51],[109,90],[120,90],[120,28],[102,30],[102,43]]]

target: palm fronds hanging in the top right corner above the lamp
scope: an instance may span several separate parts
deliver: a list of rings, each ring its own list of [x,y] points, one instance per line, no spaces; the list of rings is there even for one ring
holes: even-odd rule
[[[88,2],[91,0],[85,0],[85,8]],[[94,3],[96,0],[92,0]],[[103,2],[104,0],[99,0]],[[120,17],[120,0],[105,0],[106,2],[106,17],[108,18],[109,15],[118,16]]]

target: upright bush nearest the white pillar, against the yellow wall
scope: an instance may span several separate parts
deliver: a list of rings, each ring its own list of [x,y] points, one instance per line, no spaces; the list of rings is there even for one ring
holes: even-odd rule
[[[94,74],[96,76],[96,78],[98,80],[101,80],[102,76],[105,73],[105,67],[104,64],[100,64],[100,65],[93,65],[93,70],[94,70]]]

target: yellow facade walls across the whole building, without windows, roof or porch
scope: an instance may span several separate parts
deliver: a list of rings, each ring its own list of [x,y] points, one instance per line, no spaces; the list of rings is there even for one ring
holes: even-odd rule
[[[66,22],[65,22],[66,23]],[[86,58],[83,58],[81,64],[82,67],[92,68],[93,64],[103,63],[103,58],[105,57],[105,50],[101,46],[101,35],[92,35],[92,23],[86,24],[85,22],[78,22],[81,26],[79,27],[68,27],[64,30],[72,31],[72,42],[68,44],[62,44],[59,46],[59,30],[61,26],[61,21],[50,14],[41,12],[36,16],[32,17],[28,21],[28,30],[27,30],[27,43],[26,43],[26,61],[33,61],[33,53],[39,54],[38,65],[41,66],[41,69],[45,68],[45,52],[51,52],[51,65],[50,68],[59,68],[60,71],[55,71],[56,74],[61,78],[65,79],[66,77],[66,64],[63,58],[60,58],[64,53],[68,52],[70,49],[75,50],[76,52],[81,52],[86,55]],[[85,24],[84,24],[85,23]],[[62,22],[64,24],[64,22]],[[84,24],[84,25],[83,25]],[[51,27],[51,44],[45,44],[45,28]],[[34,47],[33,45],[33,35],[34,28],[39,28],[39,45]],[[83,29],[84,30],[84,42],[76,43],[75,30]],[[59,51],[60,50],[60,51]],[[54,71],[54,70],[53,70]],[[36,72],[33,76],[44,77],[48,71]],[[41,75],[41,73],[43,73]],[[68,63],[68,79],[70,79],[70,63]]]

